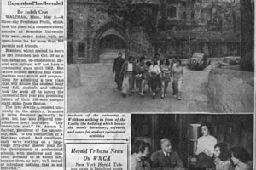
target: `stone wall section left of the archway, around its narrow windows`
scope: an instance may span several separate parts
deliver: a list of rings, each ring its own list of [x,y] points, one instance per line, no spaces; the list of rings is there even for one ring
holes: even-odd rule
[[[69,20],[73,20],[73,34],[68,33]],[[97,10],[94,3],[68,3],[67,39],[73,42],[73,62],[96,62],[93,56],[93,38],[96,31],[110,21],[108,14]],[[79,42],[84,43],[84,55],[79,57]]]

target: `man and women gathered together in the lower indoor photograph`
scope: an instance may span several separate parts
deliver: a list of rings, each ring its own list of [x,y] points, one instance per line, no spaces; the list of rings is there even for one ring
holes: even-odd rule
[[[210,135],[209,124],[201,126],[195,155],[196,170],[252,170],[250,156],[241,146],[228,149],[227,144],[217,143]],[[137,140],[132,146],[131,170],[183,168],[183,161],[172,148],[170,139],[160,140],[160,150],[150,156],[150,144]]]

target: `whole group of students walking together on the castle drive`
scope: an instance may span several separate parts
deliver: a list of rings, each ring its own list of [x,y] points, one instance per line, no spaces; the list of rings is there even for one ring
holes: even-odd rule
[[[168,84],[172,82],[172,95],[180,100],[180,88],[183,84],[181,64],[181,60],[177,58],[173,58],[171,62],[169,59],[160,59],[159,54],[156,54],[154,59],[130,56],[128,61],[125,61],[119,53],[118,58],[114,59],[113,73],[117,88],[122,91],[123,97],[137,91],[144,97],[145,85],[148,85],[148,91],[152,92],[153,98],[160,91],[160,97],[164,99]]]

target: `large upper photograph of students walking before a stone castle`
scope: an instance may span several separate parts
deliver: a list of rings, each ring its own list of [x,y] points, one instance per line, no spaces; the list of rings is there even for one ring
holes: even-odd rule
[[[67,112],[254,111],[254,1],[67,0]]]

